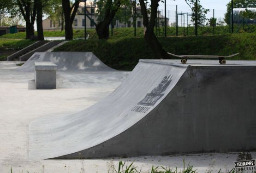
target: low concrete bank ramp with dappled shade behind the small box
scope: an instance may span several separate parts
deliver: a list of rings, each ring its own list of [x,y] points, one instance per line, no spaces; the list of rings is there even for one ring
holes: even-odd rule
[[[51,61],[58,71],[113,71],[92,52],[36,52],[17,71],[33,72],[34,62]]]

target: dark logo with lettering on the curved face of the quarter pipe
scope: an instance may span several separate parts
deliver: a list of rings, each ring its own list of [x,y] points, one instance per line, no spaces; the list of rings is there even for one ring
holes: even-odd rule
[[[146,113],[151,106],[154,106],[155,103],[163,97],[165,90],[170,85],[173,80],[173,76],[165,76],[163,80],[155,87],[150,93],[148,93],[143,100],[141,100],[136,106],[134,106],[131,111]],[[143,105],[143,106],[141,106]],[[150,107],[148,107],[150,106]]]

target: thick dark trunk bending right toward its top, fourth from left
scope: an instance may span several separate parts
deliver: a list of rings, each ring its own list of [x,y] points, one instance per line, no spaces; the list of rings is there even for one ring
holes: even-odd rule
[[[113,20],[116,12],[121,5],[121,0],[100,0],[101,9],[104,16],[101,17],[102,20],[96,25],[96,32],[99,39],[109,38],[109,24]]]

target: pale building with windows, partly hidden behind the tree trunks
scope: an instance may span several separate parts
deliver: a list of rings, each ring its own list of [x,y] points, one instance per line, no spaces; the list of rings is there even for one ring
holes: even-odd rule
[[[87,29],[95,29],[95,24],[97,21],[97,11],[98,7],[96,6],[95,1],[86,1],[86,28]],[[136,8],[137,14],[140,14],[140,6]],[[136,19],[136,27],[143,27],[143,17],[138,15]],[[161,15],[161,12],[157,13],[157,23],[158,26],[164,26],[164,16]],[[133,26],[133,17],[130,17],[127,23],[120,23],[118,20],[113,23],[114,28],[129,28]],[[167,18],[167,26],[169,26],[169,19]],[[53,21],[50,17],[43,20],[43,30],[44,31],[54,31],[61,29],[61,20]],[[73,22],[73,29],[84,29],[84,2],[79,3],[79,7],[77,9],[77,15],[75,16]]]

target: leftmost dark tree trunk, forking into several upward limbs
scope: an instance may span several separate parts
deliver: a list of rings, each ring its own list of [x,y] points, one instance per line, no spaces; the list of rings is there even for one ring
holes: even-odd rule
[[[26,22],[26,39],[34,36],[34,23],[36,20],[36,3],[32,0],[17,0],[19,11]]]

